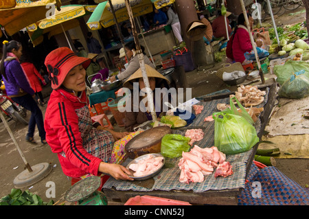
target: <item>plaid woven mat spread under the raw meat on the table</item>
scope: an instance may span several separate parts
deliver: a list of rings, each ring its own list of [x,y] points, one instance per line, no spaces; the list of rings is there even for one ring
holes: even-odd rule
[[[266,97],[264,104],[268,100],[268,91],[266,90]],[[214,121],[204,122],[205,117],[212,115],[215,112],[218,112],[217,104],[229,104],[229,97],[219,100],[211,100],[209,102],[199,102],[199,105],[203,105],[204,109],[201,114],[196,115],[194,122],[187,126],[188,128],[194,126],[203,126],[203,131],[205,133],[204,138],[201,141],[195,142],[197,146],[201,148],[210,148],[214,146]],[[263,107],[264,104],[260,104],[257,107]],[[259,121],[260,119],[258,119]],[[255,128],[258,132],[260,130],[260,122],[256,122]],[[173,130],[174,134],[185,135],[185,130]],[[194,145],[193,144],[193,145]],[[179,176],[181,170],[179,169],[178,163],[179,158],[175,159],[165,159],[165,164],[169,164],[169,168],[162,168],[161,172],[154,177],[155,184],[151,189],[146,187],[141,187],[135,185],[129,181],[116,181],[114,178],[109,178],[108,181],[104,184],[103,188],[115,189],[119,191],[133,190],[139,192],[149,192],[152,190],[161,190],[161,191],[170,191],[172,189],[183,189],[183,190],[192,190],[193,192],[205,192],[207,190],[221,190],[221,189],[238,189],[244,187],[245,175],[247,169],[247,161],[252,152],[252,149],[243,152],[240,154],[227,155],[227,161],[231,163],[233,174],[226,178],[224,177],[214,177],[214,172],[211,175],[205,176],[203,183],[190,183],[189,185],[179,182]],[[127,159],[123,165],[126,166],[132,161]],[[172,165],[171,165],[172,164]],[[172,166],[172,167],[170,167]]]

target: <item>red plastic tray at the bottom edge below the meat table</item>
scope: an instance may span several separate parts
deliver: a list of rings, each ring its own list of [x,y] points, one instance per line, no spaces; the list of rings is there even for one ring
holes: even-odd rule
[[[135,196],[129,198],[124,205],[191,205],[182,200],[173,200],[170,198],[159,198],[155,196]]]

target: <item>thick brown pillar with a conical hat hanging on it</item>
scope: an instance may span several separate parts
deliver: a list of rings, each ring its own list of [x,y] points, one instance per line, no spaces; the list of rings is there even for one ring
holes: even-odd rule
[[[179,22],[181,23],[183,40],[187,45],[187,49],[192,51],[192,56],[195,64],[197,66],[207,65],[207,52],[203,39],[201,39],[200,41],[191,41],[189,38],[187,38],[186,34],[187,25],[189,25],[192,21],[198,20],[194,2],[187,0],[176,0],[175,6],[179,17]]]

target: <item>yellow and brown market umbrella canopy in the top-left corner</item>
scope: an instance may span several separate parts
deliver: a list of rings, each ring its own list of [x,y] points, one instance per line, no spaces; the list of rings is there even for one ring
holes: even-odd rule
[[[12,0],[10,1],[12,2]],[[5,5],[5,2],[0,5],[0,25],[2,32],[5,31],[5,33],[9,36],[19,32],[19,30],[23,29],[27,25],[44,19],[52,10],[52,6],[49,5],[56,5],[58,10],[60,10],[61,5],[60,0],[26,2],[16,0],[16,5],[13,8],[14,4]],[[0,37],[2,36],[2,32],[0,32]]]

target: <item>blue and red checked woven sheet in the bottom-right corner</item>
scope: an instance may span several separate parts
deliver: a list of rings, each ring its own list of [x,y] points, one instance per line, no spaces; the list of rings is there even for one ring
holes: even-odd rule
[[[301,187],[275,167],[269,166],[259,170],[253,163],[248,180],[238,196],[238,205],[309,205],[309,190]],[[257,182],[260,183],[260,196],[256,193]]]

